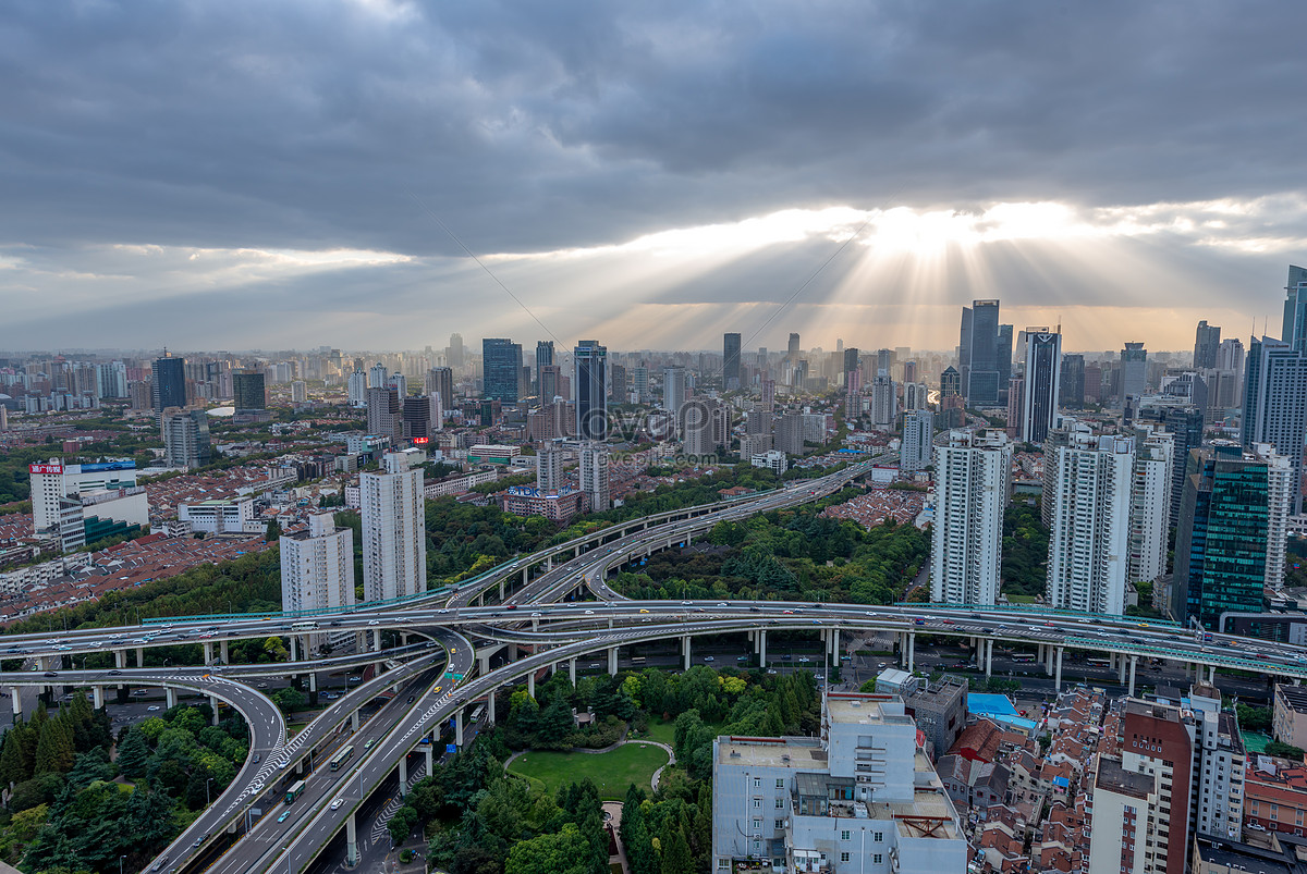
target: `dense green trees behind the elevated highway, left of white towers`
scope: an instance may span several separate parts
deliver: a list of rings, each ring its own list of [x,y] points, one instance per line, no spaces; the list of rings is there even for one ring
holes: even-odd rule
[[[929,537],[893,520],[870,530],[819,506],[720,523],[716,551],[663,551],[616,588],[635,598],[813,600],[891,604],[925,563]]]

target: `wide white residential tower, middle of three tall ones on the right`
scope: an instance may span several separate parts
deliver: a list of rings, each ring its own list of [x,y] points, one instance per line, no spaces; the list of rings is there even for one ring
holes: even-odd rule
[[[1048,541],[1048,606],[1125,613],[1134,442],[1073,432],[1059,447]]]

